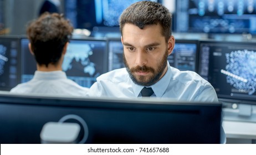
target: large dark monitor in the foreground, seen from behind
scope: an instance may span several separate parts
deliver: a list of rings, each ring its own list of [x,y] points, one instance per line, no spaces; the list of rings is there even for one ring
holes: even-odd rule
[[[220,143],[221,113],[218,102],[5,93],[0,94],[0,143],[40,143],[45,123],[64,118],[83,122],[85,143]]]

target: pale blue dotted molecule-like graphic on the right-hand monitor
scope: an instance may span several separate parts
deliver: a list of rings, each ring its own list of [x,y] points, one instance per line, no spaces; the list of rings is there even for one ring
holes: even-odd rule
[[[226,53],[226,61],[226,70],[221,73],[227,75],[227,82],[240,92],[252,95],[256,89],[256,52],[232,51]]]

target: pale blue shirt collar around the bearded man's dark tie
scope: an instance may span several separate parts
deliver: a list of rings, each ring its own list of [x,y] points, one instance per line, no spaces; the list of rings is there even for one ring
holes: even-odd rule
[[[167,62],[167,71],[166,71],[165,75],[163,75],[163,77],[159,81],[157,81],[156,84],[151,86],[156,97],[163,96],[163,93],[165,93],[165,91],[169,85],[169,82],[171,81],[171,77],[172,77],[171,66]],[[138,97],[144,86],[136,85],[133,81],[131,82],[131,84],[132,84],[132,89],[134,89],[135,97]]]

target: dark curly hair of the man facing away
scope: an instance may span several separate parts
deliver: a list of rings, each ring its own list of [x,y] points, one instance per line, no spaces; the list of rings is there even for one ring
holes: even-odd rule
[[[73,27],[58,13],[44,13],[27,27],[27,35],[39,65],[57,64]]]

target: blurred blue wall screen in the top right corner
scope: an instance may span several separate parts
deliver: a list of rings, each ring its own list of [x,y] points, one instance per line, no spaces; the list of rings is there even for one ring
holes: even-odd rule
[[[256,3],[245,0],[177,1],[177,32],[256,33]]]

